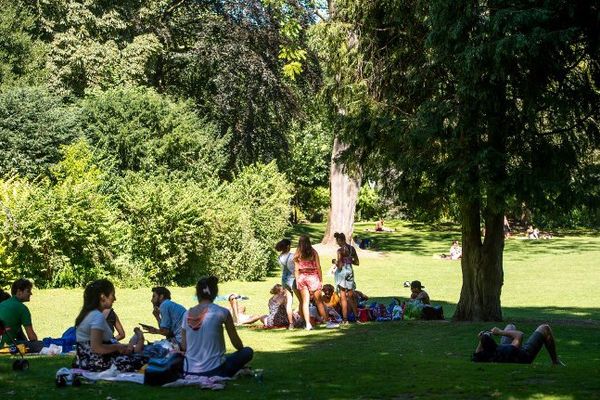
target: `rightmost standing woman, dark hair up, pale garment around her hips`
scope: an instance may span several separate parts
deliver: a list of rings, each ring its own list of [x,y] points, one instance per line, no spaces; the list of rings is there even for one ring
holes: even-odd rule
[[[346,235],[342,232],[334,233],[338,246],[336,270],[334,274],[335,289],[340,293],[340,303],[342,304],[342,319],[343,323],[348,323],[348,304],[352,308],[352,312],[358,321],[358,302],[354,290],[356,282],[354,281],[354,270],[352,265],[358,265],[358,255],[354,247],[346,243]]]

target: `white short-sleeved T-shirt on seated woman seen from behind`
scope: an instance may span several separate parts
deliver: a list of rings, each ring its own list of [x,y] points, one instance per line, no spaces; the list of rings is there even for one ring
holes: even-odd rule
[[[223,324],[229,315],[229,310],[214,303],[206,307],[208,311],[198,330],[193,330],[188,325],[190,311],[186,311],[183,315],[182,328],[185,329],[185,358],[188,372],[208,372],[225,362]]]

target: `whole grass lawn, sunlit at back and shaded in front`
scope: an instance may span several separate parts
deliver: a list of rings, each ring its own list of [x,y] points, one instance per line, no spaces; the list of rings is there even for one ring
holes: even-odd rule
[[[461,288],[460,263],[432,258],[447,252],[458,238],[456,227],[386,223],[394,233],[364,233],[373,224],[358,224],[357,234],[374,239],[376,255],[360,253],[355,268],[361,291],[388,303],[406,297],[406,280],[419,279],[434,303],[452,316]],[[302,225],[315,241],[322,224]],[[332,254],[321,254],[325,271]],[[447,398],[447,399],[592,399],[600,398],[600,237],[597,233],[563,235],[552,240],[506,242],[502,293],[504,318],[528,335],[549,322],[558,353],[567,367],[550,365],[543,349],[532,365],[475,364],[469,361],[476,333],[490,324],[399,321],[368,323],[345,329],[261,330],[240,328],[245,345],[255,350],[254,368],[264,369],[263,382],[244,378],[225,391],[161,389],[135,384],[98,383],[57,389],[55,371],[71,357],[31,358],[23,373],[0,357],[0,399],[220,399],[248,398]],[[325,278],[332,282],[331,276]],[[251,312],[264,313],[270,287],[279,276],[262,282],[228,282],[221,293],[250,297]],[[173,299],[194,304],[193,288],[173,288]],[[128,334],[139,322],[152,324],[150,289],[118,289],[115,310]],[[39,335],[59,336],[81,307],[82,290],[35,290],[28,304]],[[152,339],[152,338],[151,338]],[[228,348],[231,349],[226,339]]]

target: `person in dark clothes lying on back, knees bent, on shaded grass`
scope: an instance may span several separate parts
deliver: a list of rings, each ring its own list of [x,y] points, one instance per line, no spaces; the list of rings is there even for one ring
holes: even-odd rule
[[[501,336],[500,344],[492,336]],[[494,327],[490,331],[481,331],[478,337],[479,343],[472,357],[475,362],[531,364],[542,346],[545,346],[552,364],[564,365],[556,355],[554,334],[547,324],[538,326],[525,344],[523,332],[512,324],[504,330]]]

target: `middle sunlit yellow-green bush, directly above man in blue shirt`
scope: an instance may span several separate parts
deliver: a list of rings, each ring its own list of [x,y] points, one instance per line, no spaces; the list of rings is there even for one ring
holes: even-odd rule
[[[150,282],[191,284],[207,271],[212,193],[191,180],[126,177],[120,198],[126,248],[132,265]]]

